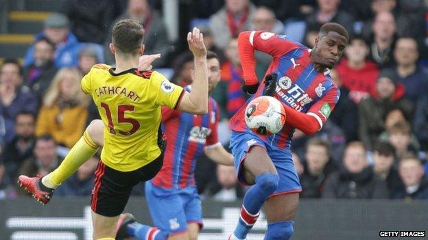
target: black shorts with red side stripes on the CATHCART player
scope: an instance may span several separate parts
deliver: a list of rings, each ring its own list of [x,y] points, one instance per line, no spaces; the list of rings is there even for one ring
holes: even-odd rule
[[[131,195],[132,187],[152,179],[162,165],[163,154],[151,163],[131,172],[114,170],[99,161],[92,190],[92,211],[106,217],[120,215]]]

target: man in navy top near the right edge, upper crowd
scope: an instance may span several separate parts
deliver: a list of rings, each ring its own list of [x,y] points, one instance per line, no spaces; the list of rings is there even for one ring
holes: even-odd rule
[[[418,44],[413,38],[399,38],[395,44],[394,58],[396,66],[394,71],[400,83],[405,87],[404,97],[414,105],[428,92],[428,75],[418,62]]]

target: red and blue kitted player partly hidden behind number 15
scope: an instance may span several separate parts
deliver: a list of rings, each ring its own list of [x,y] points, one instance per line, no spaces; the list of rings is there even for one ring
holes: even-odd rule
[[[206,54],[209,92],[220,80],[219,58]],[[185,90],[191,91],[189,87]],[[208,114],[187,114],[162,109],[163,132],[167,137],[163,167],[145,183],[145,198],[156,228],[139,224],[129,213],[121,215],[116,239],[136,237],[144,240],[197,239],[202,228],[202,208],[195,187],[195,164],[203,153],[213,161],[233,165],[233,156],[219,142],[219,108],[209,98]]]

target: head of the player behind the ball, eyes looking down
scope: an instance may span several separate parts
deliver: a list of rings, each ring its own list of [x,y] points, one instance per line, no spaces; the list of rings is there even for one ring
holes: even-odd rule
[[[338,23],[326,23],[320,28],[311,57],[322,68],[333,68],[348,44],[348,31]]]

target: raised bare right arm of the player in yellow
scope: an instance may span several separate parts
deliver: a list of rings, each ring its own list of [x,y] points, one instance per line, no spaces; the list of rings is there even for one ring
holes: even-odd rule
[[[195,76],[191,92],[185,92],[178,109],[189,114],[206,114],[208,112],[208,67],[204,37],[198,28],[193,28],[193,32],[187,34],[187,42],[195,59]]]

